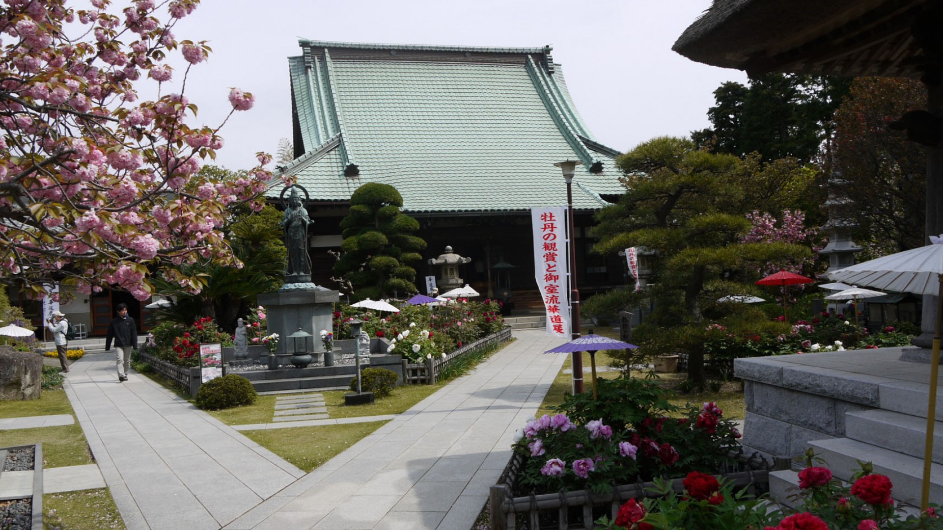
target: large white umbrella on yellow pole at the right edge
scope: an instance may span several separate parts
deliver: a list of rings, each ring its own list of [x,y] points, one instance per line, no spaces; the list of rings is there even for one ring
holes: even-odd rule
[[[937,298],[936,332],[930,360],[930,396],[927,399],[927,432],[923,454],[923,491],[920,505],[926,509],[930,500],[930,464],[934,451],[936,415],[936,379],[940,361],[940,316],[943,316],[943,236],[930,237],[933,244],[878,257],[864,263],[829,273],[830,279],[866,285],[876,289],[914,294],[933,294]]]

